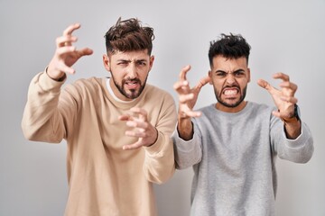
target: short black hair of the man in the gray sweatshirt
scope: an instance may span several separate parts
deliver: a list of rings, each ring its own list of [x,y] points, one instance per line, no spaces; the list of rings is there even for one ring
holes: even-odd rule
[[[225,58],[245,57],[248,64],[249,51],[251,47],[240,34],[221,34],[218,40],[210,41],[209,64],[213,65],[213,58],[220,55]]]

